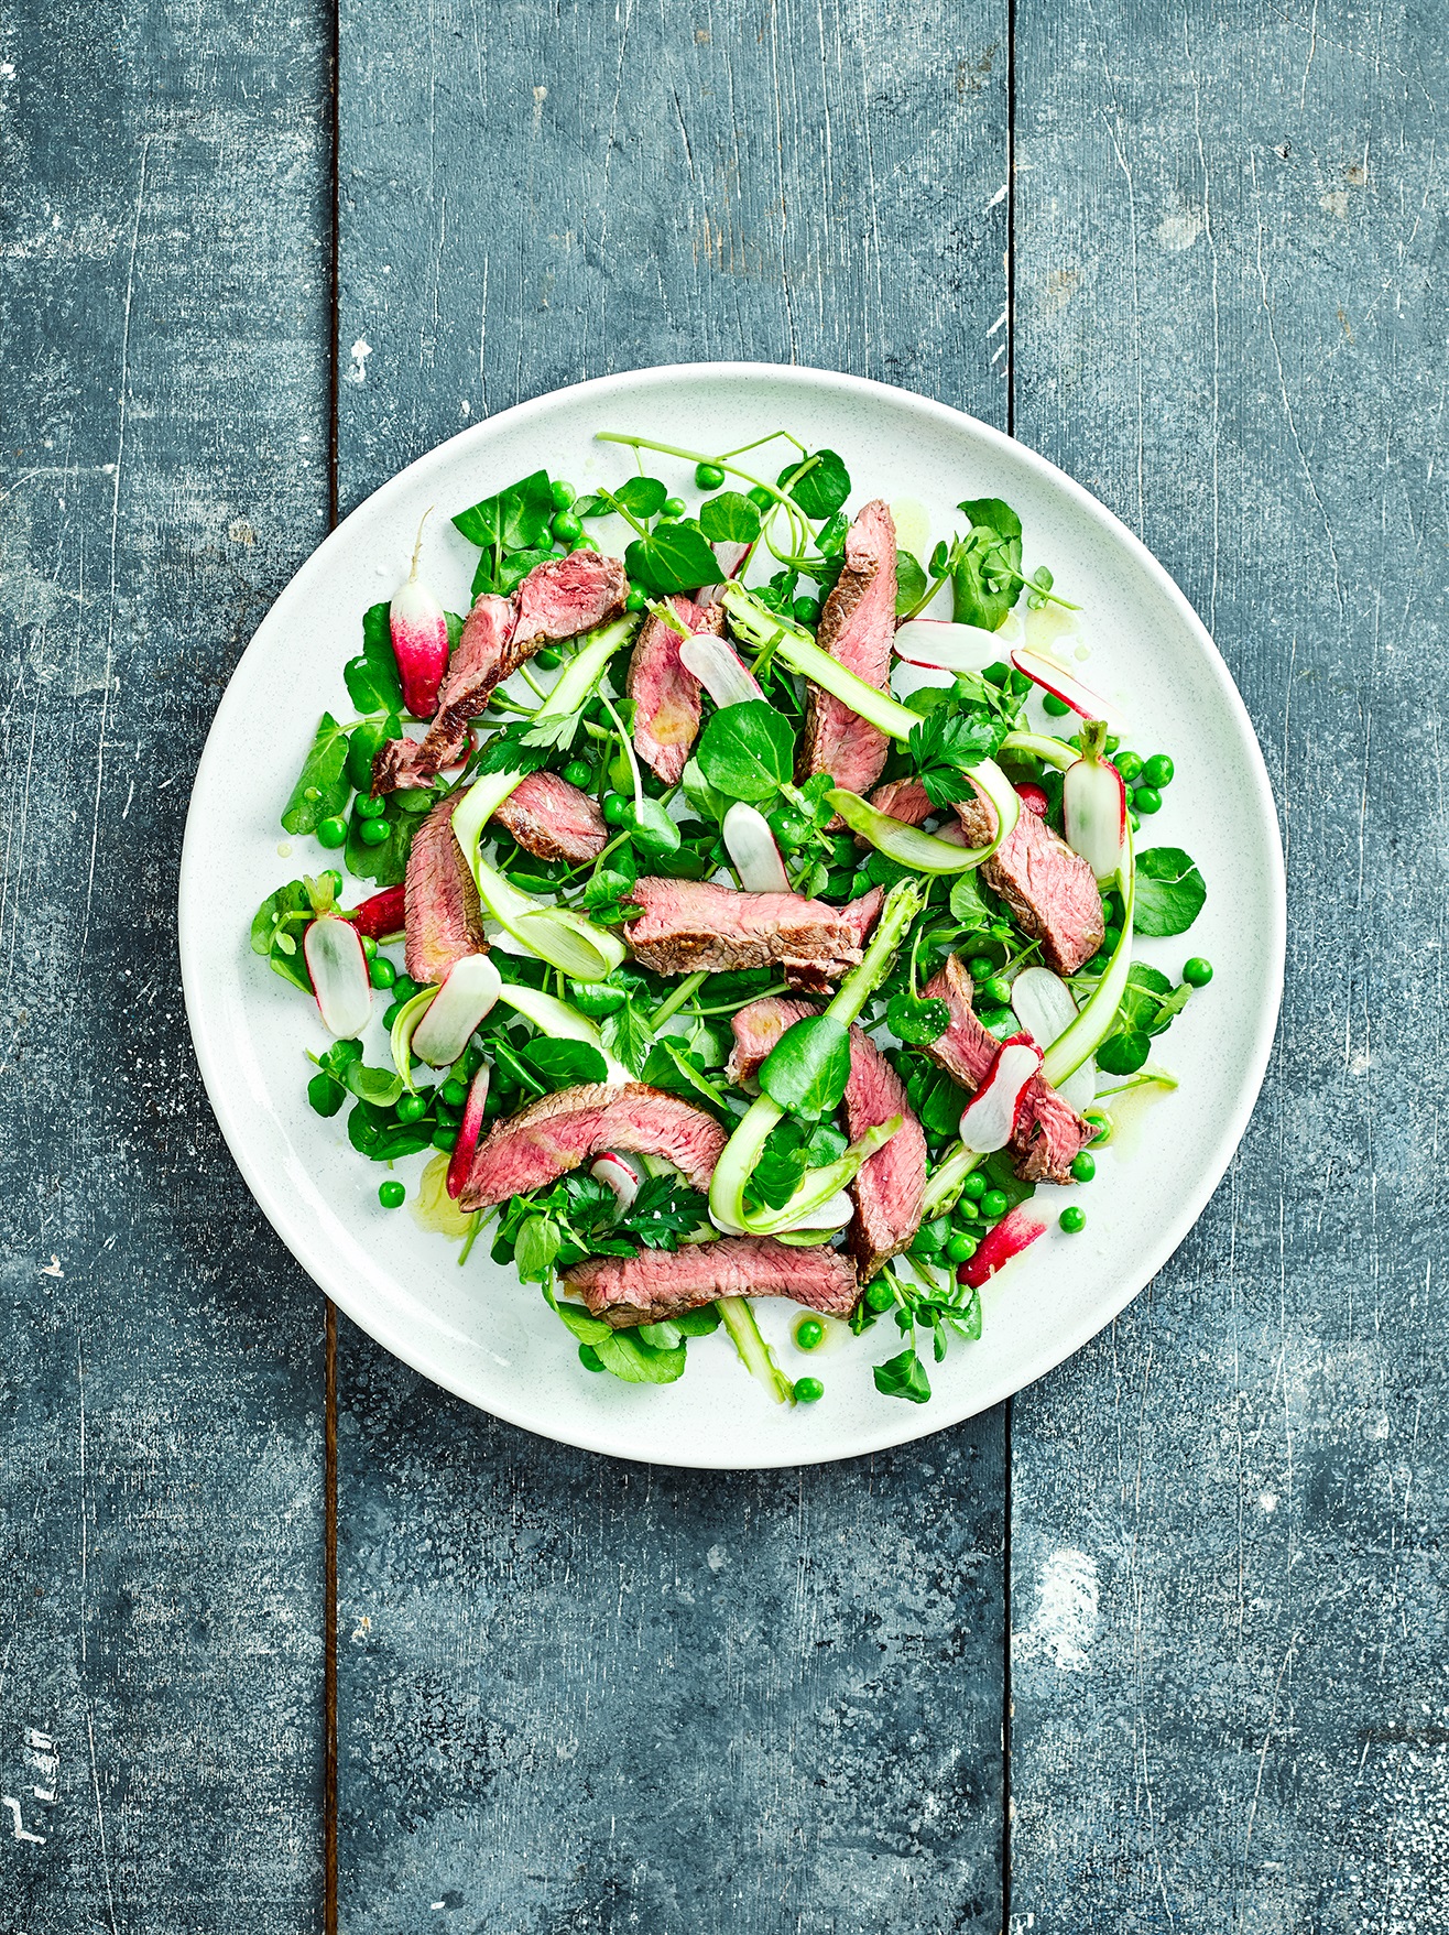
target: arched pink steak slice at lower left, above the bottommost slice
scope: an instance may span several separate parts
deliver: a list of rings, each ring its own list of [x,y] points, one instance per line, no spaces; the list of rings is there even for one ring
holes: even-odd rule
[[[660,1155],[696,1190],[708,1190],[727,1140],[704,1109],[642,1082],[559,1089],[497,1122],[478,1144],[458,1207],[486,1209],[528,1196],[600,1149]]]

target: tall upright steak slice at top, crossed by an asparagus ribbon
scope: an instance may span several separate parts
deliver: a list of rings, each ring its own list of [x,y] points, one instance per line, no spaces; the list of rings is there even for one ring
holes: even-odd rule
[[[816,644],[842,666],[886,691],[896,637],[896,524],[874,497],[845,532],[845,567],[820,613]],[[830,693],[809,687],[799,778],[828,772],[836,786],[869,793],[886,764],[890,739]],[[840,819],[832,826],[840,826]]]

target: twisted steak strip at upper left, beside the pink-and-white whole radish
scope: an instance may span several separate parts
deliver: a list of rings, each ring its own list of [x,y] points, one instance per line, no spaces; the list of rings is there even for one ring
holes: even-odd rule
[[[482,592],[443,673],[437,714],[422,741],[389,739],[371,762],[371,789],[424,786],[451,766],[468,743],[468,720],[493,687],[546,644],[594,631],[623,611],[629,580],[617,557],[571,551],[534,565],[513,598]]]

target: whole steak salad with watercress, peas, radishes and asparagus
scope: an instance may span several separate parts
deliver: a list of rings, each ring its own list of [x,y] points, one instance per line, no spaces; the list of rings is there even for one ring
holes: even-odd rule
[[[1076,606],[1000,499],[919,559],[785,432],[600,441],[638,474],[536,470],[453,519],[466,615],[420,528],[281,817],[339,865],[251,946],[315,998],[308,1099],[346,1109],[383,1207],[428,1155],[418,1217],[540,1285],[582,1370],[671,1384],[724,1327],[816,1401],[754,1322],[784,1296],[803,1353],[892,1318],[874,1385],[925,1403],[1045,1198],[1085,1227],[1118,1099],[1174,1086],[1153,1041],[1211,968],[1132,960],[1207,894],[1180,848],[1136,851],[1172,760],[1050,648]]]

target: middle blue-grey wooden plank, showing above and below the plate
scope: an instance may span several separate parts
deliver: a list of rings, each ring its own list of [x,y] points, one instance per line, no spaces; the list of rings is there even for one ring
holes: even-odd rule
[[[1000,422],[1004,66],[975,4],[346,6],[342,501],[671,358]],[[344,1923],[1000,1925],[1000,1414],[710,1478],[489,1424],[348,1325],[339,1389]]]

